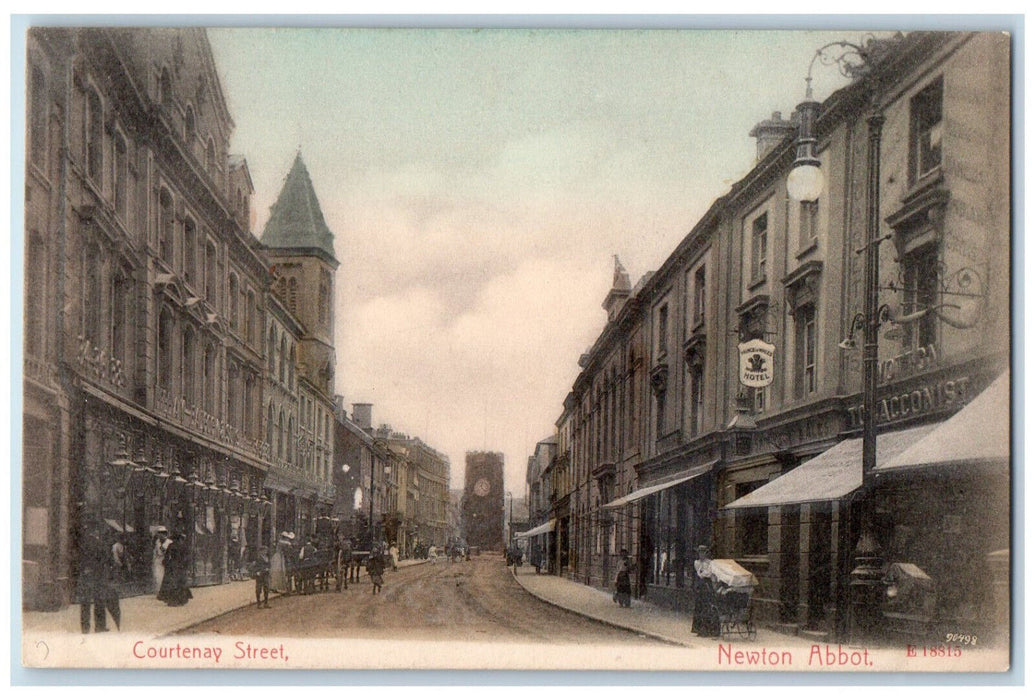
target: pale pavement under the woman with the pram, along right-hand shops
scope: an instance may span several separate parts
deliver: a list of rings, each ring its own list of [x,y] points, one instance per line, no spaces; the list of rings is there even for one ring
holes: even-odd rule
[[[693,618],[688,613],[680,613],[659,608],[646,601],[633,600],[631,608],[619,607],[610,591],[586,586],[560,576],[536,574],[534,566],[520,566],[514,580],[525,590],[540,601],[564,608],[583,617],[589,617],[612,626],[629,630],[645,637],[658,639],[670,644],[688,647],[714,646],[714,639],[698,637],[690,632]],[[783,647],[802,643],[799,637],[783,635],[759,628],[753,641],[734,635],[729,641],[739,644]]]

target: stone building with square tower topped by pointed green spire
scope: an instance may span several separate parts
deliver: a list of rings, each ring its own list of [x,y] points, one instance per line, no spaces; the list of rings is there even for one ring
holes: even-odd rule
[[[273,275],[267,324],[267,488],[273,522],[313,532],[333,509],[334,237],[301,153],[285,178],[261,238]],[[272,439],[269,439],[272,438]]]

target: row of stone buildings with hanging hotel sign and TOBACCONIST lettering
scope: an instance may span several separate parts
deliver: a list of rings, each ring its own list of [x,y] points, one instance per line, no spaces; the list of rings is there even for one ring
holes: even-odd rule
[[[945,432],[960,424],[975,444],[1008,427],[1009,39],[916,32],[867,51],[869,79],[821,106],[817,199],[790,199],[797,117],[788,128],[774,115],[755,130],[766,141],[757,165],[657,271],[629,290],[616,262],[608,325],[572,389],[569,543],[581,580],[609,585],[627,549],[639,594],[690,609],[696,549],[707,545],[756,574],[757,619],[844,636],[863,543],[884,565],[930,576],[942,623],[1002,614],[1002,595],[974,581],[1008,560],[1007,441],[939,445],[953,445]],[[886,120],[885,311],[876,485],[861,490],[856,251],[875,97]],[[743,383],[760,383],[741,371],[747,342],[771,348],[767,385]],[[979,424],[968,404],[995,404],[981,395],[997,377],[1003,410]],[[869,504],[868,525],[856,503]],[[979,517],[976,503],[996,507]]]

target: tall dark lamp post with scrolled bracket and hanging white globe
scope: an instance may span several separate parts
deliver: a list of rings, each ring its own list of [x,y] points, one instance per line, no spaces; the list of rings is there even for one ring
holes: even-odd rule
[[[819,50],[812,57],[805,78],[805,101],[799,107],[800,126],[798,149],[794,168],[788,177],[788,194],[798,201],[815,201],[823,189],[823,176],[819,169],[820,159],[816,153],[816,122],[820,104],[812,99],[811,74],[817,60],[826,65],[836,64],[847,77],[863,77],[871,81],[868,85],[870,110],[866,117],[866,229],[863,253],[863,347],[862,347],[862,488],[852,502],[855,513],[850,516],[848,537],[855,544],[855,565],[849,574],[852,632],[856,624],[873,631],[874,619],[879,607],[875,605],[880,594],[881,559],[877,544],[869,529],[873,503],[869,491],[873,486],[874,470],[877,467],[877,426],[875,422],[877,405],[878,330],[881,325],[879,312],[880,244],[889,236],[880,234],[881,215],[881,136],[884,114],[880,105],[880,94],[876,84],[874,49],[880,42],[870,39],[865,46],[849,41],[833,41]],[[830,49],[837,51],[828,54]],[[839,52],[839,53],[838,53]],[[855,322],[853,321],[853,326]],[[856,525],[855,523],[858,523]],[[848,559],[846,558],[846,561]],[[842,599],[844,600],[844,599]],[[845,605],[840,606],[845,609]]]

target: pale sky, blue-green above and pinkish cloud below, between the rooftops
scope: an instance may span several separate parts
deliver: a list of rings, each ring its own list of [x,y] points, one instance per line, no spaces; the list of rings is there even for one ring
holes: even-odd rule
[[[335,236],[336,391],[525,495],[617,255],[635,284],[863,32],[209,29],[261,235],[300,150]],[[814,70],[816,97],[846,83]]]

